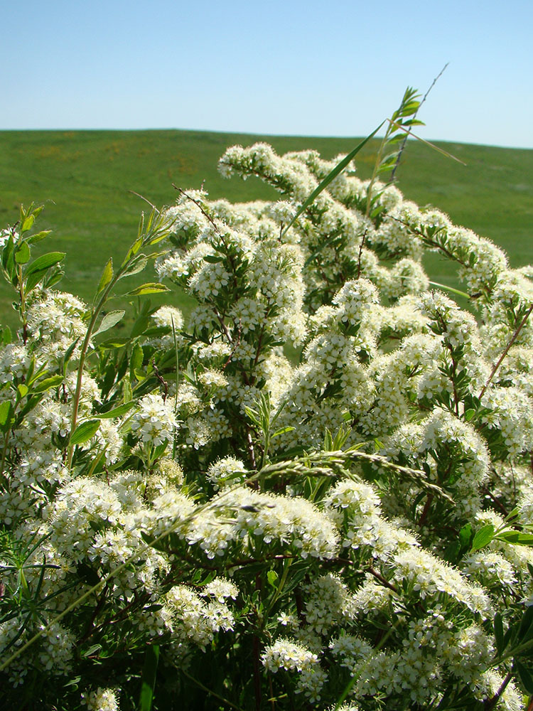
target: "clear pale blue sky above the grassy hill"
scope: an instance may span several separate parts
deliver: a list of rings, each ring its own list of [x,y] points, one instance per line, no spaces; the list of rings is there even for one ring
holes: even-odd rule
[[[404,88],[426,139],[533,147],[533,1],[4,0],[0,129],[362,136]]]

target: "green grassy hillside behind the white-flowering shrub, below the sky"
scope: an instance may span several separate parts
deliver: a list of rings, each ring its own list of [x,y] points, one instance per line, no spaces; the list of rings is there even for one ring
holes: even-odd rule
[[[230,201],[276,199],[259,181],[227,181],[217,173],[217,160],[227,146],[257,140],[279,152],[317,149],[325,158],[348,152],[358,142],[176,130],[0,132],[0,227],[16,221],[20,203],[44,204],[38,227],[54,232],[41,245],[67,252],[60,288],[90,299],[104,262],[110,255],[122,257],[136,236],[146,204],[131,191],[157,206],[173,203],[172,183],[182,188],[204,183],[211,198]],[[438,145],[467,165],[409,141],[398,172],[404,195],[490,237],[505,248],[512,266],[533,262],[533,150]],[[363,178],[370,175],[376,146],[377,141],[368,144],[357,156]],[[426,266],[431,279],[454,283],[437,257],[431,255]],[[1,284],[0,321],[13,325],[10,302],[9,288]]]

